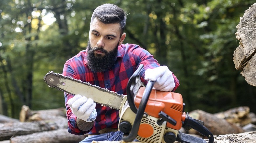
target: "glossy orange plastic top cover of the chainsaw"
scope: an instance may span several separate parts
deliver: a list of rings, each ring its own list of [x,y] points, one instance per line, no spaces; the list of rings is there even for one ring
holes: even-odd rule
[[[145,87],[140,87],[134,103],[137,108],[141,102],[141,98]],[[182,121],[185,120],[185,112],[183,113],[183,98],[179,93],[174,92],[163,92],[159,90],[152,89],[145,112],[153,117],[160,118],[158,115],[160,111],[163,111],[171,118],[177,121],[177,124],[174,126],[170,123],[166,124],[166,127],[171,129],[179,130],[182,126]]]

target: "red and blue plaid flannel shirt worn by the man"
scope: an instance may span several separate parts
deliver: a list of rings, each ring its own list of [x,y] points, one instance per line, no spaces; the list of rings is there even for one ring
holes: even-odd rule
[[[160,65],[148,51],[139,45],[122,44],[118,46],[117,60],[114,66],[106,72],[92,72],[87,66],[87,50],[83,50],[76,56],[69,59],[63,69],[63,75],[71,76],[81,81],[89,82],[102,88],[126,95],[126,86],[129,78],[135,72],[140,64],[144,65],[140,73],[141,81],[146,84],[144,79],[145,70],[148,68],[156,68]],[[173,75],[175,88],[179,86],[178,79]],[[67,101],[74,95],[65,93],[65,105],[67,109],[68,131],[75,135],[84,135],[98,133],[104,128],[117,128],[119,122],[119,111],[96,105],[97,117],[95,124],[89,131],[79,130],[76,124],[76,116],[72,113]],[[95,95],[97,96],[97,95]]]

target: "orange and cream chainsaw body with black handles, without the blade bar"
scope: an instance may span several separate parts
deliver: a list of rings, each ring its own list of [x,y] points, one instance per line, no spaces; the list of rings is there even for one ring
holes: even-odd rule
[[[182,95],[153,89],[156,81],[149,80],[146,87],[141,82],[140,64],[127,84],[127,101],[120,109],[118,130],[122,140],[132,142],[136,138],[147,143],[206,143],[202,138],[181,133],[179,129],[195,129],[213,143],[212,133],[204,122],[189,117],[184,112]]]

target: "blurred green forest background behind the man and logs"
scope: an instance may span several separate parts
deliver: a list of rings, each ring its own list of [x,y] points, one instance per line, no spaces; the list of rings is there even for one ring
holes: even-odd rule
[[[116,4],[129,13],[124,43],[147,49],[180,81],[185,111],[216,113],[249,106],[256,87],[235,69],[236,26],[255,0],[1,0],[0,114],[65,107],[43,81],[86,49],[93,10]]]

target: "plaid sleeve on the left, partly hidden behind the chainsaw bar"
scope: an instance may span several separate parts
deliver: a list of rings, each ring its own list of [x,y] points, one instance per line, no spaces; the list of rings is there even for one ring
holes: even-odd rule
[[[73,66],[72,66],[73,64],[75,64],[75,63],[72,63],[72,61],[67,61],[64,65],[62,74],[64,76],[70,76],[70,77],[77,79],[75,68],[73,68]],[[90,132],[93,127],[88,131],[82,131],[78,128],[78,126],[76,124],[77,117],[72,113],[69,105],[67,104],[68,100],[70,98],[74,97],[74,95],[64,92],[64,97],[65,97],[65,106],[66,106],[66,110],[67,110],[66,114],[67,114],[67,119],[68,119],[68,132],[71,134],[75,134],[75,135],[84,135],[84,134]]]

